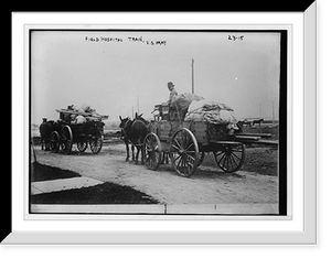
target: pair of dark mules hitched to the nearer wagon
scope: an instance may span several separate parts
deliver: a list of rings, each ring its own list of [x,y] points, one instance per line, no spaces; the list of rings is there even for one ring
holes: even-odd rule
[[[121,137],[126,143],[127,148],[127,159],[129,160],[129,143],[131,144],[132,151],[132,161],[138,163],[139,152],[142,149],[145,137],[148,134],[149,130],[149,122],[136,112],[136,118],[131,120],[129,117],[122,119],[119,116],[120,125],[119,128],[121,129]],[[137,154],[135,158],[135,147],[137,149]],[[141,151],[141,163],[143,164],[143,152]]]

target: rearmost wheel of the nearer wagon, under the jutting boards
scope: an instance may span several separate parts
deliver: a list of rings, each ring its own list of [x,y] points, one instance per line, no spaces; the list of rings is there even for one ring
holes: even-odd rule
[[[217,165],[224,172],[232,173],[239,170],[246,157],[246,148],[243,143],[225,143],[221,150],[214,151]]]

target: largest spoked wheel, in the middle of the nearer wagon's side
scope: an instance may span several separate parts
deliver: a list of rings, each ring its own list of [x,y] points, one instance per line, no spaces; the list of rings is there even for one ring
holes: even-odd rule
[[[199,147],[194,134],[183,128],[171,140],[170,159],[173,169],[181,176],[191,176],[199,165]]]

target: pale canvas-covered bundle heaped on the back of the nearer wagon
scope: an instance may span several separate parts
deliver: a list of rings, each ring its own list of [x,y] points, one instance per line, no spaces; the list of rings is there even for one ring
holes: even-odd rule
[[[185,116],[185,121],[207,121],[220,123],[223,121],[236,123],[233,109],[225,104],[212,100],[193,100]]]

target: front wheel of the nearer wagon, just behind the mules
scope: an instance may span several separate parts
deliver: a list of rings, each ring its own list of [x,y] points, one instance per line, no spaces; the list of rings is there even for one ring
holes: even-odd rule
[[[156,133],[146,136],[142,147],[145,164],[151,170],[157,170],[162,161],[161,142]]]

